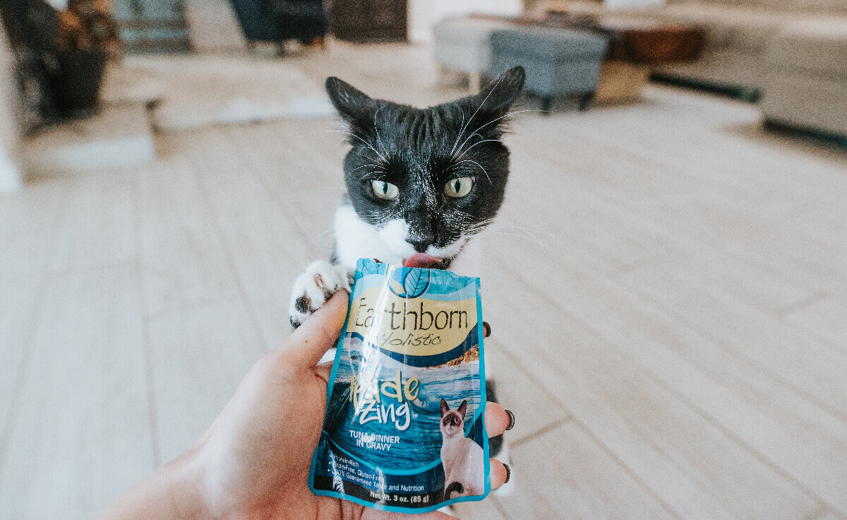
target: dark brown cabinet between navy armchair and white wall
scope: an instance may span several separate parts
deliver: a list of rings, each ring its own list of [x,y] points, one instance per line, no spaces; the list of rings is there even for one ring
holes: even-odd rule
[[[335,0],[332,33],[347,42],[405,42],[406,0]]]

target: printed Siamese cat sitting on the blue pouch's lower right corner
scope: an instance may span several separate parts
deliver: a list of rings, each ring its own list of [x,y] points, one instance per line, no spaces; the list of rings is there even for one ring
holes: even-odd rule
[[[485,492],[482,447],[465,437],[465,411],[468,401],[463,400],[456,410],[451,410],[446,400],[441,400],[441,464],[444,466],[444,500],[457,496],[483,495]]]

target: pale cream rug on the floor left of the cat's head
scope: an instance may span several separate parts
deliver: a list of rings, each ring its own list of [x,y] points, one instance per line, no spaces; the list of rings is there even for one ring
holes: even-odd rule
[[[160,88],[159,131],[333,114],[324,88],[296,65],[222,56],[132,56],[125,73]]]

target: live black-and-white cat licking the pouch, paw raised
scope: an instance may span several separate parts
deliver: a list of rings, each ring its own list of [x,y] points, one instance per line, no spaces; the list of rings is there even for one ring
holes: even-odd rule
[[[503,202],[509,150],[500,138],[523,80],[515,67],[479,94],[416,109],[327,79],[352,147],[344,159],[347,195],[335,210],[330,260],[314,261],[295,282],[294,327],[340,288],[350,289],[359,258],[479,277],[475,237]],[[489,366],[485,372],[492,374]],[[494,387],[486,385],[489,400]],[[501,440],[491,439],[490,452],[507,461]]]

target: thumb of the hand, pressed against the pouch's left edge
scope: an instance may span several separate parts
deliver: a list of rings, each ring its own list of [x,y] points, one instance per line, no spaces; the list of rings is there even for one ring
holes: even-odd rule
[[[348,298],[346,290],[338,291],[285,340],[281,349],[292,366],[311,368],[335,346],[347,317]]]

